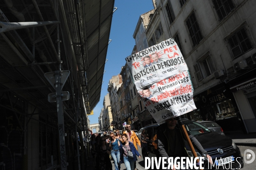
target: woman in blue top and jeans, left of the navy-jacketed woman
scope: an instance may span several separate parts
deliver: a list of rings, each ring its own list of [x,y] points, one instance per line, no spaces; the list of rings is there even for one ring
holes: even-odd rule
[[[115,170],[120,170],[120,152],[119,152],[119,145],[120,141],[115,137],[115,134],[112,132],[110,133],[110,148],[111,148],[111,156],[114,160]]]

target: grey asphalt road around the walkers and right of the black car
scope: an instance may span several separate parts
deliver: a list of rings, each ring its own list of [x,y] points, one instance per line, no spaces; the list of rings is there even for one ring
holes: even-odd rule
[[[238,146],[239,147],[239,149],[240,149],[240,151],[241,151],[241,154],[242,154],[242,156],[245,158],[245,156],[244,156],[244,151],[245,150],[247,150],[247,149],[249,149],[249,150],[252,150],[254,153],[255,153],[255,155],[256,155],[256,147],[246,147],[246,146]],[[142,155],[142,153],[141,153],[141,148],[139,148],[139,150],[138,150],[138,152]],[[138,158],[138,157],[137,157]],[[252,158],[252,157],[251,157]],[[248,159],[248,161],[250,161],[251,160],[251,158],[250,159]],[[115,170],[115,165],[114,165],[114,163],[113,163],[114,161],[112,161],[112,170]],[[136,161],[136,166],[137,166],[137,169],[138,170],[145,170],[145,168],[144,168],[144,160],[143,160],[143,158],[141,157],[141,158],[138,158],[138,161]],[[246,163],[244,163],[244,167],[243,168],[241,168],[241,170],[255,170],[256,169],[256,158],[255,158],[255,160],[251,163],[251,164],[246,164]],[[125,167],[125,165],[124,164],[121,164],[121,170],[126,170],[126,167]]]

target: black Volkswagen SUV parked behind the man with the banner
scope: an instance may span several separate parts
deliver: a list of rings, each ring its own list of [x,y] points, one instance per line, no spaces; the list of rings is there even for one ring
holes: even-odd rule
[[[236,169],[236,168],[239,169],[244,167],[243,157],[241,156],[240,150],[235,145],[235,143],[232,141],[231,138],[224,135],[220,135],[218,133],[214,133],[195,121],[191,121],[188,119],[182,119],[182,121],[185,124],[185,128],[187,132],[190,133],[191,135],[194,135],[195,138],[197,138],[197,140],[200,142],[203,148],[212,157],[212,160],[215,161],[215,158],[217,158],[218,161],[215,162],[215,168],[216,168],[216,164],[217,165],[223,164],[221,162],[221,160],[224,160],[223,158],[226,158],[226,160],[229,160],[228,163],[232,162],[232,169]],[[157,136],[156,136],[157,127],[159,125],[160,124],[150,124],[142,129],[140,140],[141,140],[142,157],[144,158],[144,160],[145,160],[145,157],[150,157],[150,159],[151,157],[160,157],[159,151],[157,149]],[[190,147],[187,141],[185,141],[185,146],[189,156],[192,157],[192,153],[190,151]],[[201,156],[200,153],[197,152],[197,156]],[[231,158],[231,157],[234,157],[234,158]],[[227,168],[228,166],[230,166],[230,164],[229,165],[226,164]],[[207,168],[208,168],[208,165],[204,167],[204,169],[207,169]],[[223,166],[219,166],[218,170],[223,170],[222,168]],[[212,167],[212,170],[213,169],[214,168]]]

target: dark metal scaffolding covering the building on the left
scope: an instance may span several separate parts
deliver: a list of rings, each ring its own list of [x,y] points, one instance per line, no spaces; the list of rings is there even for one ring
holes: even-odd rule
[[[100,100],[113,9],[114,0],[0,3],[0,166],[85,169],[87,113]],[[61,70],[70,71],[62,89],[68,101],[61,98]],[[44,78],[54,71],[56,90]],[[55,92],[57,103],[49,103]]]

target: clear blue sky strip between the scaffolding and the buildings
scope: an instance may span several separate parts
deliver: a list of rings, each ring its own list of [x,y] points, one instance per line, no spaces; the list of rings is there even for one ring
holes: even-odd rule
[[[106,72],[103,75],[103,85],[100,96],[100,102],[94,108],[94,115],[88,116],[90,124],[98,123],[100,110],[103,107],[103,99],[107,94],[107,86],[113,75],[121,72],[121,66],[125,65],[125,58],[132,53],[135,40],[132,35],[138,23],[139,16],[152,10],[152,0],[115,0],[114,12],[107,59],[105,64]]]

